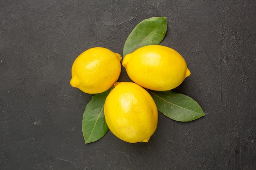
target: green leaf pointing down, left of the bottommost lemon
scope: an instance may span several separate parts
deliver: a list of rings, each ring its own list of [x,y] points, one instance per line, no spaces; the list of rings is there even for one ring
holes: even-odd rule
[[[111,88],[103,93],[93,95],[85,107],[82,122],[85,144],[99,140],[108,131],[104,116],[104,103],[110,91]]]

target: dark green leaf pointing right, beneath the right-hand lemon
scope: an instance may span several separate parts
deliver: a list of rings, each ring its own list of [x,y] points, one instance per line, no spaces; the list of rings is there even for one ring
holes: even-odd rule
[[[157,109],[176,121],[192,121],[204,116],[202,108],[195,100],[174,91],[148,91]]]

